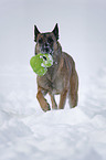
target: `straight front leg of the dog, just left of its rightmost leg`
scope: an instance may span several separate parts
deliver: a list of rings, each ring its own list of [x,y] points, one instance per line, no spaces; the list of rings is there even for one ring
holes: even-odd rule
[[[64,109],[65,102],[66,102],[66,95],[67,95],[67,90],[64,90],[64,92],[61,94],[61,99],[60,99],[59,109]]]

